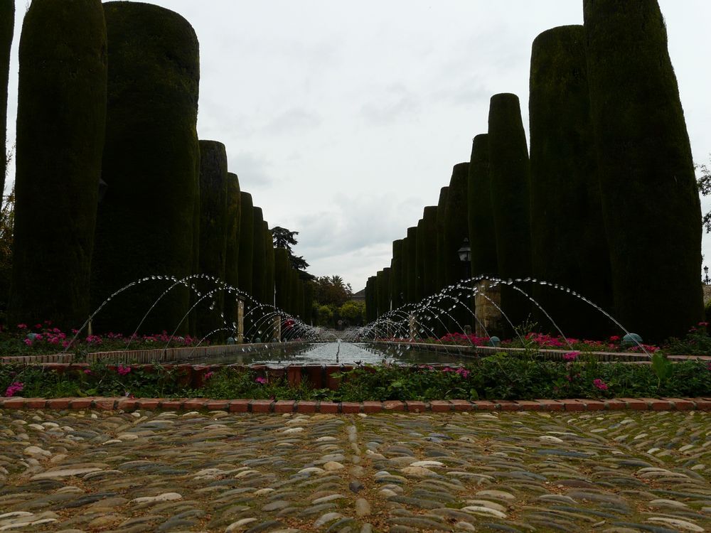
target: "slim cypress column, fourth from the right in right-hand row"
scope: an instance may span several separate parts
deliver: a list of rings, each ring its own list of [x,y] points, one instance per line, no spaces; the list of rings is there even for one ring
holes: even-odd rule
[[[498,275],[496,234],[491,209],[491,181],[488,163],[488,134],[479,134],[471,144],[469,161],[469,245],[471,275]]]

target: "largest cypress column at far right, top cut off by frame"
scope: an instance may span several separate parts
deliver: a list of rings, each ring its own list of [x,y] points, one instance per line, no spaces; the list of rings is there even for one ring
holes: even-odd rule
[[[645,340],[701,320],[701,210],[655,0],[585,0],[590,116],[616,318]]]

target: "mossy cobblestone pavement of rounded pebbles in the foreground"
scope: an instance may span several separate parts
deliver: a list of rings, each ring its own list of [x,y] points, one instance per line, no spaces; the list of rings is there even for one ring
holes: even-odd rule
[[[0,411],[0,532],[702,532],[698,411]]]

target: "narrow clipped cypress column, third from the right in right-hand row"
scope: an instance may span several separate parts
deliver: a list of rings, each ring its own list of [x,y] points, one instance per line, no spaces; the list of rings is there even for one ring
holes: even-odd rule
[[[531,273],[530,173],[516,95],[501,93],[491,97],[488,144],[498,274],[503,279],[525,278]],[[508,286],[501,289],[501,308],[515,326],[530,313],[528,299]]]

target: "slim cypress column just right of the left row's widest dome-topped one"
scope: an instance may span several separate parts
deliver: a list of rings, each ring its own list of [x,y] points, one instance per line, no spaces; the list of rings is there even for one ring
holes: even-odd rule
[[[198,335],[207,335],[223,327],[220,313],[225,310],[225,291],[215,289],[219,287],[220,281],[225,281],[228,240],[227,191],[225,145],[218,141],[200,141],[200,272],[213,276],[218,282],[200,280],[198,284],[203,294],[214,291],[196,308]],[[228,335],[215,333],[215,338],[222,336]]]

